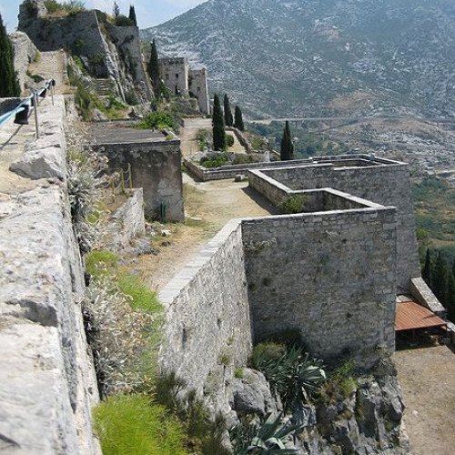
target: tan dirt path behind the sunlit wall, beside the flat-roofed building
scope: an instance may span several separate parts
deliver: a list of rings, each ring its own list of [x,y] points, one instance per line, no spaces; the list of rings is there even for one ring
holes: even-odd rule
[[[140,259],[136,268],[152,289],[166,286],[188,260],[235,217],[262,217],[270,214],[272,207],[257,198],[248,196],[248,183],[233,180],[217,180],[197,183],[185,175],[185,224],[169,224],[169,238],[158,237],[154,247],[157,256],[147,255]],[[257,195],[254,195],[257,197]]]

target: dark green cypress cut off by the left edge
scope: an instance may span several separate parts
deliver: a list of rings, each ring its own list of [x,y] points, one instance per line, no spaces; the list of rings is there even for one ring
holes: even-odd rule
[[[15,73],[13,45],[6,34],[0,15],[0,98],[21,95],[21,88]]]

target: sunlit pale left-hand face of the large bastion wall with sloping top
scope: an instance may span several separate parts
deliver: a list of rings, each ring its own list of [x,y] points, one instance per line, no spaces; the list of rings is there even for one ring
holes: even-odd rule
[[[167,308],[164,371],[201,394],[220,365],[246,365],[251,330],[240,221],[228,222],[158,297]]]

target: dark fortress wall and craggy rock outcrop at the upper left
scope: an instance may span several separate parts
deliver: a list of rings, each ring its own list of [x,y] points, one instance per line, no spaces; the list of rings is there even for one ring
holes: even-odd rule
[[[40,51],[69,49],[81,57],[91,75],[111,79],[124,100],[130,88],[143,101],[151,99],[137,27],[110,25],[96,10],[51,17],[46,15],[43,0],[32,0],[31,5],[35,6],[20,5],[18,29]]]

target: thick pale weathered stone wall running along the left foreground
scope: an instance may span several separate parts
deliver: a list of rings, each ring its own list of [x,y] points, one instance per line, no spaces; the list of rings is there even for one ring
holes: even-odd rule
[[[45,137],[32,143],[25,159],[39,171],[33,157],[43,163],[47,154],[38,145],[54,144],[61,159],[50,157],[52,164],[41,168],[60,166],[63,181],[39,180],[34,189],[0,197],[0,451],[98,454],[91,424],[98,392],[81,308],[84,274],[65,181],[63,96],[40,111]]]

